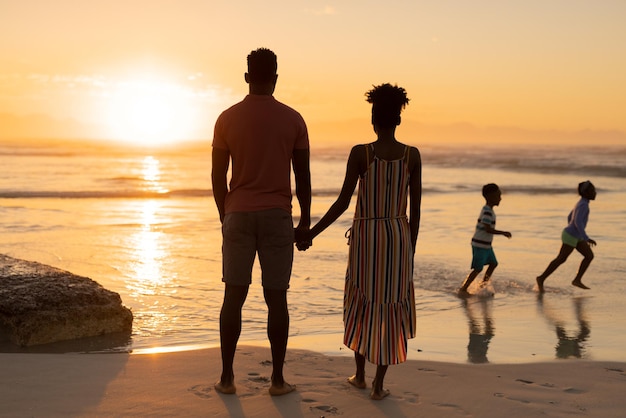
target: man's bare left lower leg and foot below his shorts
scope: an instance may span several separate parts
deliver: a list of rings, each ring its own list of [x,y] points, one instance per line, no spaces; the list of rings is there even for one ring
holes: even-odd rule
[[[215,384],[221,393],[235,393],[235,374],[233,361],[237,341],[241,334],[241,308],[248,296],[248,286],[226,285],[224,302],[220,312],[220,344],[222,349],[222,376]]]

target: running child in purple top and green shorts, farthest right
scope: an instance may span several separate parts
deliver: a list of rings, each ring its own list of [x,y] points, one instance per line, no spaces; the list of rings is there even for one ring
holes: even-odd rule
[[[580,287],[581,289],[589,289],[582,282],[583,274],[587,271],[587,267],[593,260],[593,251],[591,247],[596,245],[596,242],[587,236],[585,228],[587,227],[587,221],[589,220],[589,201],[596,198],[596,188],[589,181],[583,181],[578,185],[578,194],[581,196],[580,200],[574,206],[574,209],[567,215],[568,225],[563,229],[561,239],[563,244],[561,250],[554,260],[550,262],[546,270],[539,276],[537,276],[537,290],[540,293],[544,292],[543,283],[561,264],[563,264],[569,255],[576,249],[583,255],[583,260],[580,262],[578,273],[572,281],[572,285]]]

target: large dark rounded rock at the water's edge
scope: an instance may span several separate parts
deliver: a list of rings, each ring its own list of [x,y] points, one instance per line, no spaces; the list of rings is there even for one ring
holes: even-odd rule
[[[0,254],[0,325],[19,346],[132,332],[118,293],[44,264]]]

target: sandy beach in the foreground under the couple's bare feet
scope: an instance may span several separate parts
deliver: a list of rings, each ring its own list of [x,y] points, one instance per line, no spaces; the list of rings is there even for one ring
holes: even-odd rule
[[[242,346],[236,395],[213,384],[219,348],[158,354],[0,354],[2,417],[617,417],[626,363],[562,360],[473,365],[411,360],[390,367],[391,395],[350,386],[350,357],[287,352],[297,390],[268,394],[269,349]],[[368,365],[371,381],[373,366]]]

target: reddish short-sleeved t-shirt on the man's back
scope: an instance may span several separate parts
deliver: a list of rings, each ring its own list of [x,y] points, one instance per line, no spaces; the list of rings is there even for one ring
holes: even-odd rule
[[[273,96],[247,95],[215,123],[213,147],[231,156],[225,212],[281,208],[291,213],[291,159],[308,149],[302,116]]]

